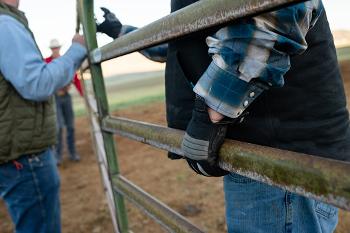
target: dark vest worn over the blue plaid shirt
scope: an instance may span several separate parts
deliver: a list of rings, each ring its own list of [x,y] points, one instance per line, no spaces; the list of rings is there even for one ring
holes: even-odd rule
[[[195,0],[172,1],[172,12]],[[168,126],[186,130],[192,117],[195,85],[211,62],[202,32],[169,43],[166,60]],[[350,161],[349,111],[325,10],[307,32],[308,48],[290,58],[285,85],[264,91],[246,109],[241,124],[226,137],[287,151]],[[171,156],[172,154],[169,154]]]

